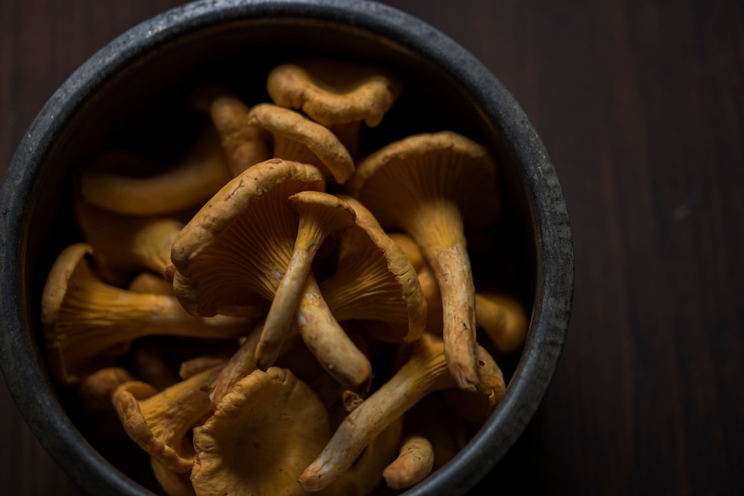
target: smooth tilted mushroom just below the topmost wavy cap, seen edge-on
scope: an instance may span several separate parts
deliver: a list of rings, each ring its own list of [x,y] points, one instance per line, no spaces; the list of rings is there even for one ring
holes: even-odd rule
[[[339,138],[299,112],[260,103],[248,112],[248,124],[272,134],[274,157],[309,163],[339,184],[354,174],[354,161]]]

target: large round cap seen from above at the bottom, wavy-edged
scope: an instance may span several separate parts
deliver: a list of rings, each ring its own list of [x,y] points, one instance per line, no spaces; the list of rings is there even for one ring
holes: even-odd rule
[[[240,379],[193,429],[191,482],[198,496],[304,495],[298,474],[329,437],[328,414],[288,369]]]

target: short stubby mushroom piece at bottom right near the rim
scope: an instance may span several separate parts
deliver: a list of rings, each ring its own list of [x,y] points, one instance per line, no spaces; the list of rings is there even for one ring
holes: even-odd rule
[[[408,489],[426,479],[433,467],[432,443],[420,434],[411,434],[401,444],[395,461],[385,467],[382,477],[391,489]]]

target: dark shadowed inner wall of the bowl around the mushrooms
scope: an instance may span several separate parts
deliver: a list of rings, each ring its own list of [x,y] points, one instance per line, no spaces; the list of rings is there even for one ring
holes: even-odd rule
[[[111,66],[100,66],[105,71],[99,80],[93,73],[100,67],[89,65],[73,76],[89,84],[89,91],[62,103],[71,117],[52,131],[25,203],[19,244],[25,324],[42,371],[45,358],[37,317],[42,287],[54,258],[63,247],[80,239],[71,217],[77,166],[111,148],[171,163],[185,152],[202,122],[185,103],[191,89],[219,82],[237,91],[248,105],[268,102],[265,83],[269,70],[304,55],[365,59],[403,79],[403,94],[382,124],[362,134],[366,151],[409,134],[445,129],[490,146],[500,162],[504,215],[493,228],[495,244],[472,244],[476,287],[503,287],[519,296],[527,308],[533,307],[540,261],[532,192],[501,124],[484,112],[482,102],[462,84],[454,68],[443,67],[394,33],[347,21],[283,15],[203,23],[182,28],[177,38],[169,35],[161,42],[142,45],[147,50],[131,41],[115,42],[104,49],[113,56],[112,71]],[[446,48],[434,45],[432,50],[436,53]],[[102,63],[103,57],[97,60]],[[36,125],[44,125],[39,122]],[[515,371],[518,359],[501,363],[507,376]],[[106,460],[159,492],[147,458],[138,448],[90,437],[89,418],[77,410],[74,391],[54,388],[54,392],[62,411]]]

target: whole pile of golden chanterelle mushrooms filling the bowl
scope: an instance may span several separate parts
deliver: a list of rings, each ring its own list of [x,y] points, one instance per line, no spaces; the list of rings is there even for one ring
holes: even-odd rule
[[[169,496],[394,494],[487,420],[525,341],[466,247],[501,213],[496,160],[449,130],[365,151],[403,90],[374,65],[292,60],[266,88],[252,108],[195,88],[202,131],[167,167],[116,149],[80,169],[49,370]]]

